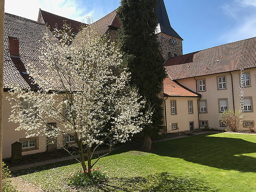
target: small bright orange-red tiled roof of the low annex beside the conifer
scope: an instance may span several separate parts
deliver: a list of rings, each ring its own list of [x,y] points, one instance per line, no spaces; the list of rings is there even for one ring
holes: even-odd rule
[[[163,93],[168,96],[187,96],[187,97],[199,97],[200,94],[187,89],[180,85],[176,81],[172,81],[169,76],[163,79]]]

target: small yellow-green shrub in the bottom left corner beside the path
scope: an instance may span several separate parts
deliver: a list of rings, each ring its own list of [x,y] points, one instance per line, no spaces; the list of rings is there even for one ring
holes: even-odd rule
[[[11,185],[11,180],[10,180],[10,171],[8,169],[8,166],[2,162],[2,188],[3,192],[18,192],[16,188]]]

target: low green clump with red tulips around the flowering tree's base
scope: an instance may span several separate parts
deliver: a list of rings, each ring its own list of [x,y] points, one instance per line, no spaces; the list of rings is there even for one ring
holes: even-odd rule
[[[99,170],[100,168],[92,169],[91,176],[85,175],[83,173],[83,170],[80,169],[75,174],[69,175],[69,177],[67,178],[67,185],[91,186],[91,185],[98,185],[100,183],[104,183],[107,179],[107,176],[105,173],[102,173]]]

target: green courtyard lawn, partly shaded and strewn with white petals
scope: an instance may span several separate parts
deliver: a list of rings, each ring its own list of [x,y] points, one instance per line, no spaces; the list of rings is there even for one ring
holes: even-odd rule
[[[102,192],[255,192],[256,135],[204,133],[153,143],[150,153],[120,152],[102,158],[97,166],[109,176]],[[60,166],[23,179],[49,192],[68,192],[64,179],[80,164]]]

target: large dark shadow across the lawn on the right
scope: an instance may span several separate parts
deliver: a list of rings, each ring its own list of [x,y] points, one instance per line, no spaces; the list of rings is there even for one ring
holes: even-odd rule
[[[256,155],[243,155],[256,153],[256,143],[240,138],[207,137],[213,134],[157,142],[150,152],[223,170],[256,172]]]

